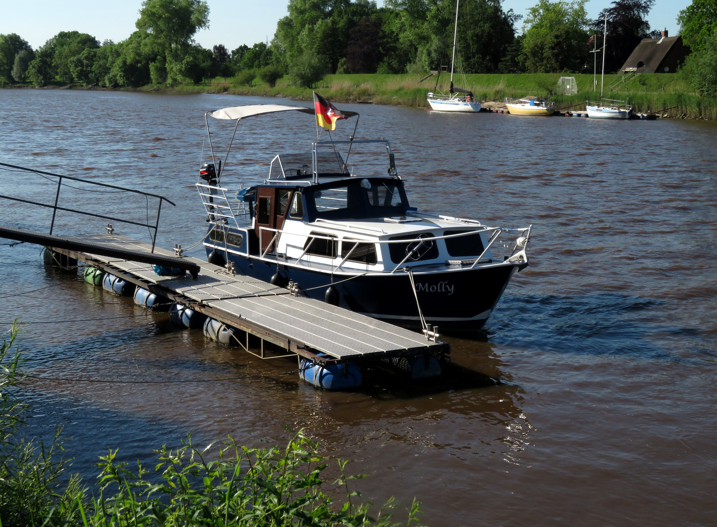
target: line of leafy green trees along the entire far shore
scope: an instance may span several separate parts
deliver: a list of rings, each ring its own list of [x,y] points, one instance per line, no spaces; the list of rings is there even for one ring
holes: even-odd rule
[[[523,16],[501,0],[462,0],[458,12],[460,70],[465,73],[584,72],[592,70],[592,39],[602,43],[607,15],[606,71],[622,66],[645,37],[654,0],[615,0],[595,20],[587,0],[539,0]],[[0,35],[0,77],[6,82],[84,83],[139,87],[199,83],[234,77],[269,85],[289,75],[311,87],[333,73],[427,73],[450,63],[455,0],[289,0],[271,42],[223,44],[194,41],[209,24],[205,0],[144,0],[137,30],[123,42],[60,32],[34,50],[17,34]],[[686,44],[714,47],[717,0],[694,0],[680,11]],[[520,27],[518,27],[520,25]],[[599,47],[599,45],[598,45]],[[711,49],[711,48],[710,48]],[[703,69],[708,69],[703,65]]]

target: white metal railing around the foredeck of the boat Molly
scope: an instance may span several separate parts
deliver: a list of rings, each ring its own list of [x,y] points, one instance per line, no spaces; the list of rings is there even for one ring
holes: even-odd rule
[[[477,220],[473,220],[473,221],[477,222]],[[479,226],[477,225],[476,227],[479,227]],[[478,257],[468,257],[468,258],[463,259],[463,260],[471,263],[470,269],[473,269],[473,267],[478,265],[478,263],[480,263],[481,260],[483,260],[483,257],[488,253],[488,250],[490,250],[490,248],[493,247],[493,244],[495,244],[495,242],[498,240],[498,237],[500,237],[500,234],[508,234],[508,233],[516,234],[516,240],[513,244],[511,254],[508,255],[508,257],[506,257],[505,260],[510,260],[511,262],[512,261],[516,261],[516,262],[526,262],[527,261],[527,256],[526,256],[525,251],[526,251],[528,241],[530,239],[531,229],[533,228],[532,224],[528,227],[522,227],[522,228],[517,228],[517,229],[508,229],[508,228],[504,228],[504,227],[487,227],[485,225],[481,225],[480,227],[482,227],[482,228],[473,229],[473,230],[470,230],[467,232],[461,232],[459,234],[442,234],[440,236],[417,237],[415,239],[381,239],[381,240],[379,240],[379,239],[375,239],[375,238],[364,238],[364,239],[353,238],[353,237],[351,239],[341,238],[342,242],[353,243],[353,247],[351,248],[351,250],[349,250],[349,252],[346,256],[342,257],[342,260],[341,260],[341,262],[338,263],[338,265],[336,265],[336,266],[333,265],[333,260],[335,260],[335,258],[332,258],[332,264],[331,264],[332,270],[333,271],[340,270],[341,267],[343,267],[343,265],[348,261],[349,257],[351,257],[353,250],[355,250],[356,247],[359,247],[359,244],[362,244],[362,243],[378,245],[379,250],[382,248],[382,246],[384,246],[384,244],[386,245],[386,247],[388,247],[389,244],[396,244],[396,243],[408,244],[408,245],[416,244],[415,247],[411,247],[411,250],[407,251],[406,257],[404,257],[404,259],[401,262],[399,262],[390,271],[390,274],[392,275],[397,270],[402,269],[402,266],[404,264],[406,264],[409,260],[411,260],[412,262],[416,261],[412,257],[417,252],[419,252],[419,250],[421,250],[421,248],[424,247],[424,245],[427,244],[428,242],[434,242],[437,239],[449,239],[449,238],[460,238],[460,237],[465,237],[465,236],[472,236],[473,234],[479,234],[481,232],[486,232],[486,233],[491,232],[490,238],[488,239],[488,244],[486,244],[485,247],[483,247],[483,252],[481,252]],[[265,262],[276,262],[278,260],[278,258],[280,257],[280,254],[278,252],[276,252],[276,245],[277,245],[278,240],[282,234],[286,234],[287,236],[290,236],[290,237],[300,237],[300,238],[306,237],[307,239],[309,239],[308,244],[305,243],[304,245],[295,245],[295,244],[290,244],[289,242],[286,243],[287,248],[296,249],[296,250],[301,251],[301,254],[296,258],[297,262],[310,263],[308,260],[304,260],[304,258],[308,254],[308,251],[310,250],[311,245],[313,244],[313,242],[316,239],[326,239],[331,242],[339,241],[338,237],[336,237],[336,236],[321,236],[319,234],[306,235],[306,234],[299,234],[297,232],[288,232],[288,231],[285,231],[284,229],[273,229],[272,227],[260,226],[259,227],[259,247],[265,247],[265,249],[263,249],[262,252],[260,253],[259,260],[263,260]],[[269,243],[266,245],[264,244],[265,236],[266,237],[271,236]],[[505,246],[505,247],[507,247],[507,246]],[[507,248],[509,248],[509,247],[507,247]],[[272,249],[274,251],[272,251]],[[274,257],[268,257],[270,252],[275,253]],[[247,256],[248,255],[249,254],[248,254],[248,248],[247,248]],[[283,256],[286,257],[286,254],[284,254]],[[457,259],[455,261],[462,262],[463,260]],[[385,270],[388,270],[388,269],[385,269]]]

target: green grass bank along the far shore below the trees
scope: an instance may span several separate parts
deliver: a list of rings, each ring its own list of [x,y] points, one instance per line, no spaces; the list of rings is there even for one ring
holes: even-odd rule
[[[549,98],[556,102],[556,108],[574,106],[584,110],[585,100],[599,98],[600,76],[594,86],[593,75],[574,75],[579,92],[576,95],[561,95],[558,80],[561,75],[547,73],[525,73],[516,75],[465,75],[455,79],[455,84],[467,87],[482,101],[502,103],[506,97],[521,98],[534,96]],[[318,82],[315,90],[334,103],[373,103],[384,105],[427,108],[427,92],[436,89],[436,76],[423,82],[418,75],[327,75]],[[605,75],[604,97],[627,99],[637,113],[656,113],[672,118],[717,119],[717,98],[701,97],[680,75],[642,74],[626,82],[614,85],[619,75]],[[437,90],[447,91],[449,77],[441,75]],[[612,89],[610,88],[612,86]],[[141,90],[160,90],[146,86]],[[186,93],[229,93],[232,95],[262,95],[266,97],[287,97],[297,100],[312,100],[308,88],[290,86],[288,77],[283,77],[275,87],[256,80],[252,86],[238,85],[234,79],[215,79],[201,85],[179,85],[169,91]]]

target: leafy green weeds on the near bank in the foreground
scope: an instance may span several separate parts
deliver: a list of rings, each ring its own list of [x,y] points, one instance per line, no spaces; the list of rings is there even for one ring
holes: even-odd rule
[[[98,483],[85,485],[68,473],[61,429],[49,447],[19,438],[19,331],[14,323],[0,349],[0,527],[399,525],[393,498],[378,510],[361,501],[350,483],[363,476],[346,475],[346,461],[326,483],[328,458],[302,431],[283,449],[244,447],[231,437],[199,449],[188,437],[177,449],[156,450],[153,470],[139,463],[130,470],[110,450],[100,457]],[[402,525],[418,523],[419,506],[414,500]]]

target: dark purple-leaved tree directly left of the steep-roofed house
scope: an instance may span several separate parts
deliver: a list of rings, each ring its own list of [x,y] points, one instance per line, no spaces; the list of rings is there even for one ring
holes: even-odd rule
[[[617,0],[612,7],[600,11],[591,24],[595,34],[602,35],[607,15],[609,46],[605,52],[605,71],[619,70],[642,39],[654,36],[645,16],[655,0]],[[599,42],[604,42],[602,38]]]

